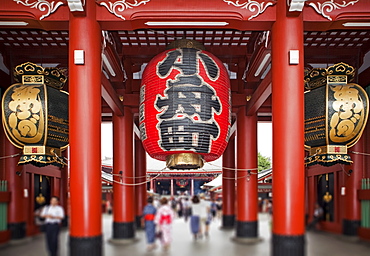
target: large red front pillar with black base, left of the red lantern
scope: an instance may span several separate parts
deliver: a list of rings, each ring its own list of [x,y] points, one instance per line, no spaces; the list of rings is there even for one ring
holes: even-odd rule
[[[70,255],[102,255],[101,29],[95,1],[69,19]],[[76,50],[84,63],[75,63]],[[76,56],[75,56],[76,54]]]

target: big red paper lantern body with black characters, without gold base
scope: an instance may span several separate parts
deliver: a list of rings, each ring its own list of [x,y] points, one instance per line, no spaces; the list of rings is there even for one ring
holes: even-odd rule
[[[140,91],[140,132],[158,160],[196,153],[213,161],[224,152],[230,129],[230,81],[211,53],[177,48],[147,65]]]

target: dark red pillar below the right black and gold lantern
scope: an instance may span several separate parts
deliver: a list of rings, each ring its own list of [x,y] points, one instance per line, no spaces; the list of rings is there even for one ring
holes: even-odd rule
[[[364,152],[364,137],[350,148],[350,151]],[[361,224],[361,203],[357,191],[361,189],[361,179],[364,171],[364,156],[351,154],[353,164],[346,165],[345,170],[350,175],[345,175],[346,195],[344,196],[344,216],[342,233],[348,236],[357,236],[357,230]]]

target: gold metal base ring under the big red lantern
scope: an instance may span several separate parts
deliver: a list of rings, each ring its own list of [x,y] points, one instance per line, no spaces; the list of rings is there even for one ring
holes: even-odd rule
[[[180,153],[167,156],[166,165],[170,169],[198,169],[203,167],[203,157],[193,153]]]

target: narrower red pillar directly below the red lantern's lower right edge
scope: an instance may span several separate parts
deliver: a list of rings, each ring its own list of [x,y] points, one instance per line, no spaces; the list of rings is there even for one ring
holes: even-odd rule
[[[222,227],[235,226],[235,137],[229,143],[222,156]]]

